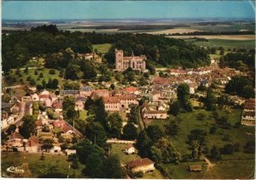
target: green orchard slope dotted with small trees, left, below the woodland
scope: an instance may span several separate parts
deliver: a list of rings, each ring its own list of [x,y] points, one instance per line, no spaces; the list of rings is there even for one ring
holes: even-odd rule
[[[29,82],[26,81],[27,76],[32,76],[32,79],[34,79],[38,84],[42,85],[42,81],[45,80],[45,82],[47,83],[49,81],[49,79],[57,79],[59,81],[59,83],[61,82],[61,78],[59,77],[60,71],[59,70],[55,70],[55,75],[50,75],[49,74],[49,70],[47,68],[44,68],[42,70],[38,70],[38,75],[35,75],[34,72],[35,70],[28,70],[27,73],[24,72],[24,70],[20,70],[20,74],[21,76],[15,75],[15,69],[11,70],[10,76],[12,76],[13,78],[15,77],[16,81],[18,84],[20,84],[21,79],[23,80],[23,82],[25,84],[29,84]],[[39,78],[40,73],[43,73],[44,77]],[[15,84],[12,84],[15,85]]]

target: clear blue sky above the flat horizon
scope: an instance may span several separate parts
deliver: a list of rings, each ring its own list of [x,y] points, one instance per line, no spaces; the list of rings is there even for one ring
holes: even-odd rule
[[[253,19],[253,1],[3,1],[3,20]]]

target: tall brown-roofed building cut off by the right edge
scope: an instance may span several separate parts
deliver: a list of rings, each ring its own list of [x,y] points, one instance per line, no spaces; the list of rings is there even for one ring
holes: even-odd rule
[[[246,100],[241,114],[241,124],[255,126],[255,98]]]

